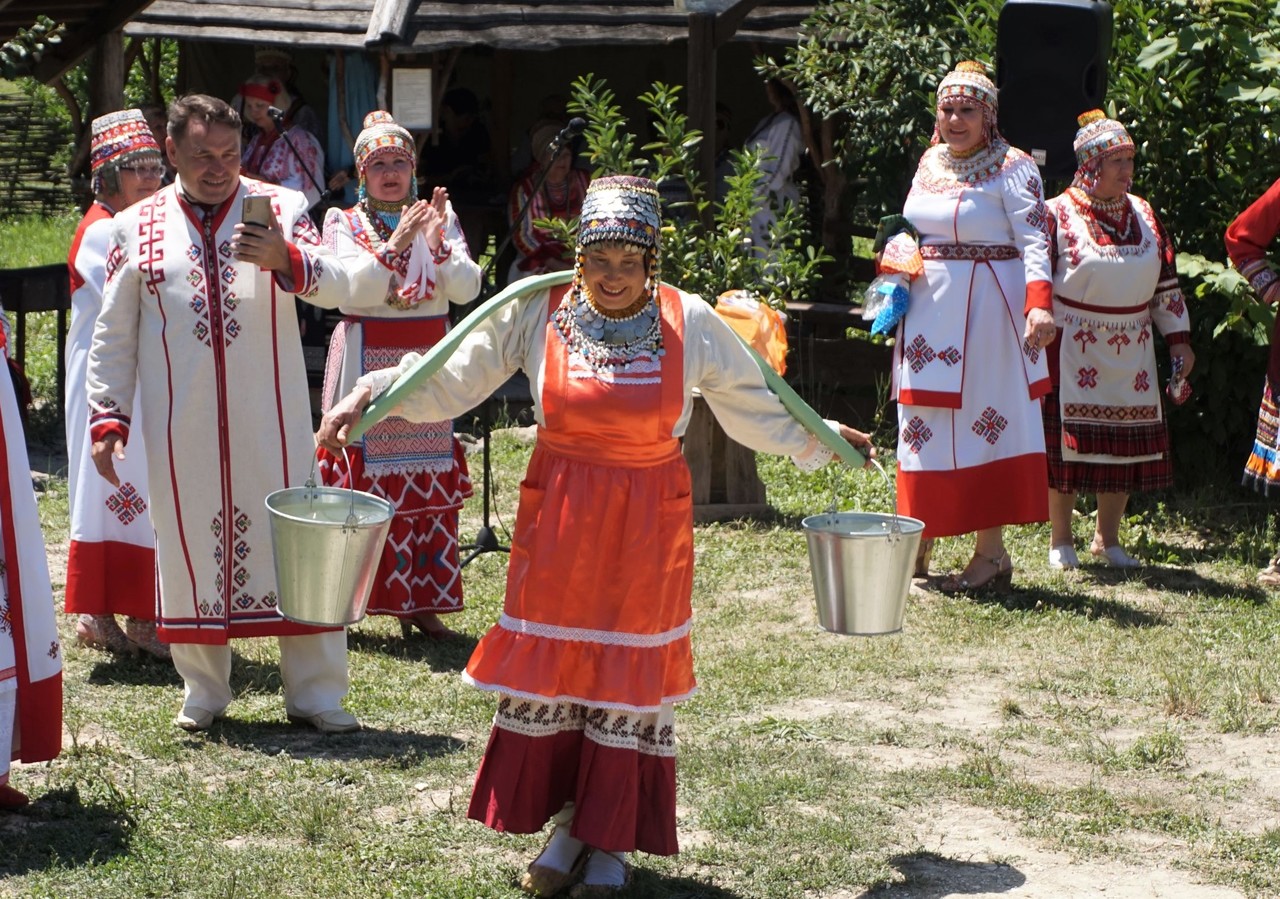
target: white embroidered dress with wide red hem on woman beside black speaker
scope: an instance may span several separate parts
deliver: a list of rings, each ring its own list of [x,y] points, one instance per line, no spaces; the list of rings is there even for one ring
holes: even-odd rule
[[[899,511],[927,537],[1047,517],[1048,369],[1023,341],[1028,284],[1051,280],[1039,172],[1009,149],[966,182],[945,152],[925,151],[902,209],[924,273],[893,351]]]

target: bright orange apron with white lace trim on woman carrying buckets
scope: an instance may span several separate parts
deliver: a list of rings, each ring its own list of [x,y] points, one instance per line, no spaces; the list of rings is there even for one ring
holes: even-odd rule
[[[547,424],[520,485],[503,615],[467,663],[481,689],[634,711],[695,689],[692,501],[672,437],[684,311],[667,289],[659,307],[660,371],[603,380],[547,328]]]

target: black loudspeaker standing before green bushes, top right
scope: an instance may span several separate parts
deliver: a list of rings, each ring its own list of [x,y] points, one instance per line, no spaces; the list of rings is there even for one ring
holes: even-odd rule
[[[1111,4],[1005,0],[996,36],[1000,129],[1044,178],[1075,172],[1075,119],[1102,106],[1110,55]]]

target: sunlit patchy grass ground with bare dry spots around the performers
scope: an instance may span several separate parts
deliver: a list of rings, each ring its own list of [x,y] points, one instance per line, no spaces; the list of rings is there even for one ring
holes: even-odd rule
[[[529,450],[509,438],[494,450],[509,526]],[[1240,821],[1248,803],[1274,820],[1280,784],[1260,793],[1212,763],[1280,724],[1280,616],[1249,583],[1253,538],[1242,538],[1262,539],[1262,507],[1197,525],[1194,540],[1179,507],[1142,512],[1189,561],[1129,575],[1050,572],[1044,529],[1019,529],[1009,597],[913,595],[901,634],[842,638],[814,626],[795,520],[829,503],[833,483],[844,507],[883,508],[887,488],[760,467],[778,519],[695,535],[701,692],[677,715],[684,852],[640,858],[637,895],[901,882],[913,858],[937,861],[919,855],[916,829],[940,802],[988,809],[1044,852],[1280,891],[1277,830]],[[51,544],[65,539],[65,505],[55,479],[40,499]],[[477,516],[479,497],[465,535]],[[936,557],[966,553],[945,540]],[[503,569],[497,555],[467,569],[463,642],[406,642],[383,619],[352,631],[348,704],[366,730],[349,736],[285,724],[270,640],[236,645],[230,717],[182,734],[172,668],[81,649],[64,619],[68,748],[15,773],[37,802],[0,818],[0,895],[520,895],[539,838],[465,817],[493,706],[458,671],[497,617]]]

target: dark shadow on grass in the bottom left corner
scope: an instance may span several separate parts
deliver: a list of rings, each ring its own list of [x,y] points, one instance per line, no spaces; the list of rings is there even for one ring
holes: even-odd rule
[[[0,813],[0,877],[102,864],[129,850],[134,825],[124,808],[84,804],[74,786],[50,790],[20,811]]]

